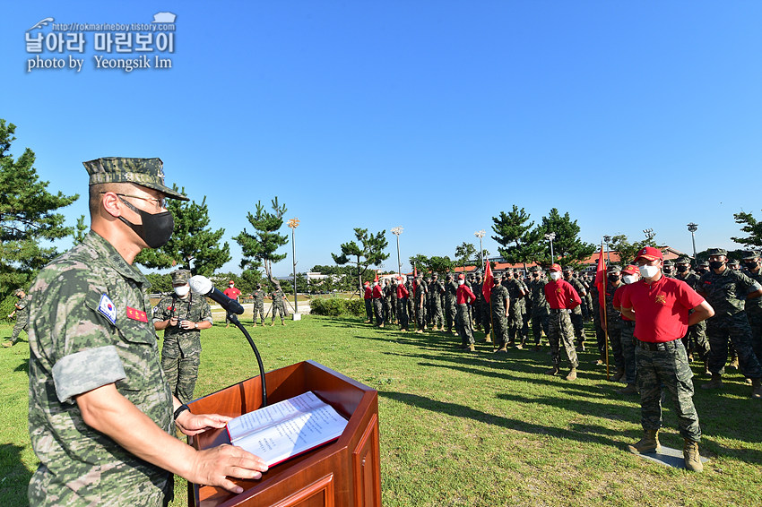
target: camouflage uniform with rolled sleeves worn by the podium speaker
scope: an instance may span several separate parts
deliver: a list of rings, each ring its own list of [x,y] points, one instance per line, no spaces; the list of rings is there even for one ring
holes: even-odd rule
[[[114,383],[168,434],[172,393],[146,312],[148,280],[105,239],[40,271],[30,293],[30,505],[161,505],[172,476],[84,423],[74,397]]]

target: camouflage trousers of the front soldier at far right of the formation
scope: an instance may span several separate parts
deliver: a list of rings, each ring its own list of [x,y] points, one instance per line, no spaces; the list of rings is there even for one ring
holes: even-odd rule
[[[712,317],[706,321],[706,338],[709,339],[709,371],[723,374],[728,360],[728,339],[738,353],[740,372],[745,376],[762,378],[762,366],[751,348],[751,328],[746,313]]]

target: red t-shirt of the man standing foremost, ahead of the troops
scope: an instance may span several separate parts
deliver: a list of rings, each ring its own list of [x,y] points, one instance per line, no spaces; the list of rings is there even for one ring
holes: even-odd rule
[[[662,275],[652,284],[636,281],[622,293],[621,307],[636,314],[635,337],[660,343],[680,339],[688,331],[688,310],[704,298],[682,280]]]

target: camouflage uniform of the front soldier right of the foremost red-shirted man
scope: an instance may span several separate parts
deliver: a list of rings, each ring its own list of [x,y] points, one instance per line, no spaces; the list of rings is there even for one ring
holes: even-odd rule
[[[712,249],[709,250],[712,255]],[[724,251],[723,251],[724,252]],[[738,352],[740,371],[751,379],[762,377],[762,366],[751,348],[751,328],[744,312],[749,293],[762,288],[740,271],[727,266],[722,273],[705,273],[699,280],[702,296],[714,308],[714,317],[706,321],[709,339],[709,371],[723,374],[728,359],[728,339]]]

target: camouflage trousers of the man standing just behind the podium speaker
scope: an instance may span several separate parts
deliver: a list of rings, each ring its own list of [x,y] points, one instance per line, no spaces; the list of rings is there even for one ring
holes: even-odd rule
[[[197,333],[200,334],[200,333]],[[180,347],[178,337],[164,337],[161,348],[161,369],[169,382],[169,389],[178,400],[187,403],[194,400],[193,391],[198,378],[198,365],[201,363],[201,341],[198,337],[180,338],[190,340],[190,345],[184,343]]]

